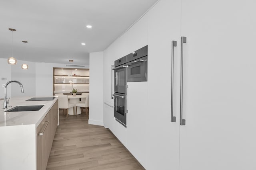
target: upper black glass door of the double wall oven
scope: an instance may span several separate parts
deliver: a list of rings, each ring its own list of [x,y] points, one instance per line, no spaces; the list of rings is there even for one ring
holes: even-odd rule
[[[125,94],[126,86],[126,68],[115,70],[115,86],[114,92]]]

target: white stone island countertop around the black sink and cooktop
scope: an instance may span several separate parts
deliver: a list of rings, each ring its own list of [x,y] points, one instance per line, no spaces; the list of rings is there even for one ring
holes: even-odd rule
[[[50,111],[54,103],[58,100],[58,96],[54,96],[54,100],[48,101],[25,101],[34,97],[52,97],[52,96],[29,96],[29,97],[14,97],[10,98],[8,109],[15,106],[24,105],[44,105],[38,111],[15,111],[15,112],[5,112],[3,109],[3,100],[0,104],[0,127],[3,126],[16,126],[16,125],[36,125],[40,124],[45,115]],[[6,110],[8,110],[6,109]]]

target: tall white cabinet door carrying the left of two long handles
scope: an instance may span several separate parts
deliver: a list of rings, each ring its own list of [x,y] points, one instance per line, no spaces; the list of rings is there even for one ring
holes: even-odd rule
[[[161,0],[148,12],[148,108],[145,111],[148,170],[178,170],[180,0]],[[174,91],[171,104],[172,41]],[[171,122],[171,106],[176,122]],[[129,106],[128,106],[129,107]],[[129,114],[129,113],[128,113]],[[130,115],[129,115],[130,116]]]

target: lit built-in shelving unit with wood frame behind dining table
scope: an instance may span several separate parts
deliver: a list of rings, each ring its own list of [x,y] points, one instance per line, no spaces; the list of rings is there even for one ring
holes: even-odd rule
[[[56,93],[71,94],[72,85],[78,89],[77,94],[89,92],[89,69],[53,68],[53,95]]]

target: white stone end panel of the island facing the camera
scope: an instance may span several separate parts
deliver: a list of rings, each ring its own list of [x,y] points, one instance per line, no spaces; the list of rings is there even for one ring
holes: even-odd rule
[[[0,169],[36,169],[36,127],[18,125],[0,127]]]

